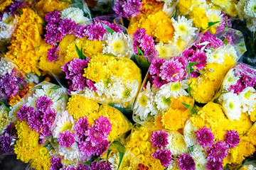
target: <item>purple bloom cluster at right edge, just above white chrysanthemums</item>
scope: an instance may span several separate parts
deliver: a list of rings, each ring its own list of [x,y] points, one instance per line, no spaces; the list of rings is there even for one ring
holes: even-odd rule
[[[231,85],[228,91],[234,91],[235,94],[240,93],[247,87],[254,87],[256,84],[256,71],[246,64],[238,64],[235,66],[234,73],[239,77],[236,84]]]

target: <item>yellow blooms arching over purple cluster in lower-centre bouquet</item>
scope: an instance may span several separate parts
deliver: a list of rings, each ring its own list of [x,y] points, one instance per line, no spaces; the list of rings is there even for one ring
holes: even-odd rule
[[[105,118],[109,118],[112,124],[112,130],[110,131],[108,139],[111,142],[116,140],[119,135],[129,130],[130,123],[127,122],[120,111],[111,106],[99,105],[96,101],[92,101],[84,96],[71,96],[67,108],[68,113],[72,115],[75,120],[87,116],[90,126],[92,123],[95,123],[95,120],[101,115]]]

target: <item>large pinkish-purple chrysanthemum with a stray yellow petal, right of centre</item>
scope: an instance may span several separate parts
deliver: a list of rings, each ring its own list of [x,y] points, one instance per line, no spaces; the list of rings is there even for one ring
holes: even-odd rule
[[[181,57],[172,57],[160,69],[159,76],[166,81],[181,81],[186,76],[186,62]]]

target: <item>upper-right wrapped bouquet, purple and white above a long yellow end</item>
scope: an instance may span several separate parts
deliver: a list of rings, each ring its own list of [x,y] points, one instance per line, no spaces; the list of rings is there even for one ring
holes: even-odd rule
[[[227,30],[219,38],[206,32],[199,42],[183,52],[191,63],[191,95],[195,101],[207,103],[215,96],[225,74],[245,52],[241,36],[236,30]]]

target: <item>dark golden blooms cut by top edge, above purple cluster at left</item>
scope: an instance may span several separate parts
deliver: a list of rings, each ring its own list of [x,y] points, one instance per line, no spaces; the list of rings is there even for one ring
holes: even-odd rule
[[[40,0],[36,2],[36,11],[38,12],[38,15],[42,18],[45,18],[47,13],[53,12],[53,11],[62,11],[65,8],[69,7],[68,2],[71,2],[70,0],[67,1],[59,1],[59,0]]]

